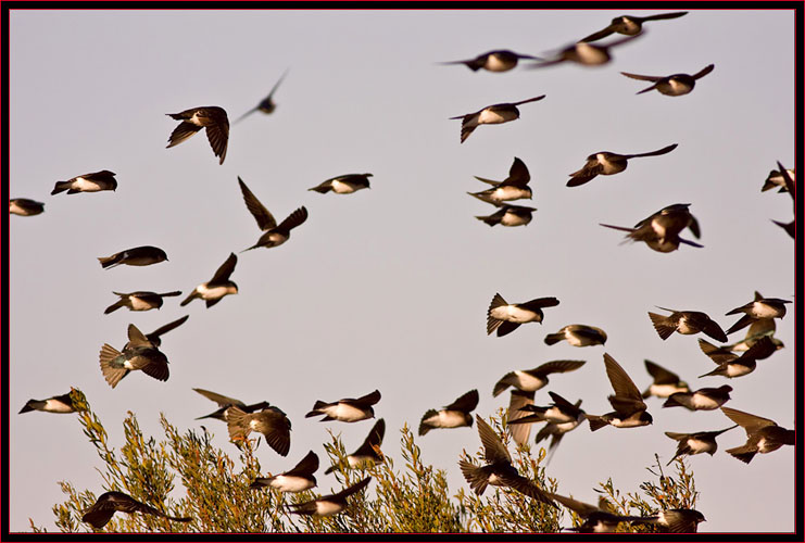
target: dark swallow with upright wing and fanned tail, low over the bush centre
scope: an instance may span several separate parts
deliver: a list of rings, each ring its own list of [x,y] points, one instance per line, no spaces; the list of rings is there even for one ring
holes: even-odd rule
[[[458,467],[469,483],[469,488],[476,494],[481,495],[489,484],[507,487],[538,502],[556,507],[556,504],[548,497],[548,492],[539,488],[533,481],[519,475],[517,469],[512,466],[508,450],[495,431],[479,415],[476,415],[475,418],[478,422],[478,435],[480,435],[483,445],[483,457],[488,464],[476,466],[465,458],[458,460]]]

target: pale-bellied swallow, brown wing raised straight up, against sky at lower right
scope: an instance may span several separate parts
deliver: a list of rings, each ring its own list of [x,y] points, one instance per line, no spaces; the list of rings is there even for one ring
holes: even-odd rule
[[[615,394],[607,397],[613,406],[613,412],[605,415],[587,415],[590,421],[590,430],[595,431],[607,425],[615,428],[637,428],[639,426],[651,425],[652,416],[645,411],[647,407],[643,403],[643,396],[634,386],[634,381],[629,378],[627,372],[615,362],[609,354],[604,353],[604,365],[606,375],[609,378]]]

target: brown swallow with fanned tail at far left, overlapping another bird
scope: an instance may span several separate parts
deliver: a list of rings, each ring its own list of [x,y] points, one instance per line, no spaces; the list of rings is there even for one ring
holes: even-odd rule
[[[167,381],[171,372],[167,357],[135,326],[128,325],[128,343],[123,352],[104,343],[100,354],[101,372],[114,389],[129,371],[141,369],[159,381]]]

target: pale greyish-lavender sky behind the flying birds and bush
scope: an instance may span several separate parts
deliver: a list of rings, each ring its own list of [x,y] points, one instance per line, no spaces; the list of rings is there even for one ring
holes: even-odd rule
[[[322,475],[327,429],[352,451],[372,422],[305,419],[316,400],[379,389],[382,449],[399,460],[404,422],[416,429],[425,411],[474,388],[477,413],[489,416],[508,402],[507,393],[492,397],[500,377],[552,359],[588,363],[552,378],[538,405],[552,390],[583,399],[588,413],[611,411],[604,352],[641,390],[651,382],[649,358],[694,389],[729,383],[728,406],[792,428],[801,377],[793,305],[778,320],[785,349],[729,382],[696,379],[714,368],[699,337],[663,341],[646,312],[704,311],[726,330],[738,317],[725,313],[755,290],[793,300],[794,243],[770,222],[791,219],[791,199],[760,192],[776,161],[794,161],[793,11],[693,10],[651,22],[601,67],[473,73],[437,64],[492,49],[545,54],[614,16],[661,11],[12,11],[10,195],[45,202],[46,211],[10,217],[11,530],[27,530],[29,517],[54,528],[51,506],[65,497],[56,481],[103,492],[100,460],[74,416],[16,414],[28,399],[71,386],[87,394],[116,447],[127,411],[158,439],[161,412],[179,428],[199,428],[193,419],[215,404],[193,387],[267,400],[288,414],[293,431],[286,458],[261,446],[264,470],[289,469],[312,449],[323,459],[320,493],[338,490],[334,476]],[[678,98],[636,96],[647,85],[618,73],[692,74],[710,63],[713,73]],[[232,125],[223,165],[204,134],[165,149],[177,125],[166,113],[219,105],[234,121],[287,68],[276,112]],[[461,122],[448,118],[539,94],[546,98],[521,106],[520,119],[481,126],[463,144]],[[667,155],[565,187],[590,153],[670,143],[679,147]],[[530,169],[534,191],[519,203],[538,211],[526,227],[490,228],[474,216],[494,209],[466,191],[485,188],[473,176],[505,178],[514,156]],[[117,174],[116,192],[50,195],[56,180],[100,169]],[[365,172],[374,174],[370,190],[306,190]],[[184,298],[230,252],[256,241],[237,176],[278,220],[300,205],[310,218],[285,245],[239,254],[231,279],[240,293],[211,310],[200,301],[179,307],[173,298],[159,312],[103,315],[113,290],[181,290]],[[622,232],[599,226],[631,226],[672,203],[692,204],[704,249],[662,254],[621,245]],[[98,256],[146,244],[164,249],[169,262],[98,264]],[[495,292],[510,302],[556,296],[561,304],[545,310],[542,325],[488,337]],[[98,363],[103,343],[122,348],[129,323],[150,332],[186,314],[189,320],[163,337],[167,382],[136,372],[114,390],[106,384]],[[606,330],[605,348],[543,343],[574,323]],[[608,477],[637,491],[653,478],[645,468],[654,454],[666,463],[676,451],[664,431],[731,426],[718,411],[647,404],[651,427],[593,433],[584,422],[566,435],[548,468],[558,492],[595,503],[593,488]],[[205,425],[237,456],[226,426]],[[463,449],[479,447],[475,427],[416,441],[425,462],[446,469],[453,493],[468,490],[457,462]],[[701,531],[793,531],[794,447],[750,465],[724,452],[744,442],[735,429],[718,439],[713,457],[689,459],[696,508],[707,518]]]

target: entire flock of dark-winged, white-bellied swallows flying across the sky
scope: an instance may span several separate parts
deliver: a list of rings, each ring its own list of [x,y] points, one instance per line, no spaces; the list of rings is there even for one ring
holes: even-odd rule
[[[624,15],[616,17],[604,29],[596,31],[587,38],[561,50],[553,59],[540,59],[537,56],[519,54],[507,50],[490,51],[471,60],[455,61],[445,64],[464,64],[473,71],[487,70],[490,72],[506,72],[517,66],[518,61],[533,61],[529,68],[550,66],[561,62],[575,62],[582,65],[604,64],[611,60],[609,49],[621,43],[631,41],[642,33],[642,25],[649,21],[671,20],[681,17],[687,12],[664,13],[646,17]],[[612,34],[621,34],[626,38],[618,39],[608,45],[595,41]],[[622,73],[622,75],[651,81],[652,85],[638,93],[657,90],[658,92],[678,97],[691,92],[695,83],[709,74],[714,65],[709,64],[700,72],[688,74],[672,74],[669,76],[647,76],[639,74]],[[273,96],[280,79],[254,109],[248,111],[238,121],[249,114],[261,111],[265,114],[272,113],[276,103]],[[499,103],[486,106],[475,113],[469,113],[453,119],[462,119],[461,142],[464,142],[471,132],[485,124],[501,124],[519,118],[517,106],[536,102],[545,98],[544,96],[529,98],[518,102]],[[213,153],[219,160],[219,164],[226,159],[229,121],[226,111],[218,106],[203,106],[185,110],[180,113],[167,114],[171,118],[179,121],[168,139],[168,148],[177,146],[202,128]],[[628,161],[636,157],[659,156],[667,154],[677,144],[669,144],[656,151],[620,154],[601,151],[590,154],[581,169],[570,174],[567,181],[568,187],[578,187],[592,180],[599,175],[614,175],[626,169]],[[319,193],[334,192],[337,194],[349,194],[357,190],[369,188],[372,174],[349,174],[327,179],[309,190]],[[473,197],[494,205],[498,211],[491,215],[478,216],[479,220],[495,226],[516,227],[528,224],[531,220],[533,207],[514,205],[508,202],[519,199],[530,199],[532,195],[529,187],[530,175],[528,167],[515,157],[511,166],[508,177],[502,181],[495,181],[482,177],[478,180],[488,184],[488,188],[478,192],[468,192]],[[244,249],[250,251],[257,248],[275,248],[290,238],[291,230],[304,224],[307,218],[307,210],[301,206],[291,212],[282,222],[277,223],[274,215],[260,202],[260,200],[247,187],[246,182],[238,178],[238,184],[248,211],[254,217],[261,236],[256,243]],[[101,171],[74,177],[66,181],[58,181],[51,194],[65,192],[74,194],[79,192],[97,192],[103,190],[115,190],[117,181],[115,174],[110,171]],[[795,199],[795,174],[782,167],[778,163],[778,169],[771,171],[763,186],[763,191],[779,189],[780,192],[789,192]],[[658,252],[670,252],[679,249],[680,244],[701,248],[699,243],[680,237],[685,228],[699,239],[701,230],[699,223],[689,211],[690,204],[672,204],[651,216],[640,220],[634,227],[620,227],[602,225],[608,228],[628,232],[627,240],[645,242],[649,248]],[[45,204],[29,199],[13,199],[10,201],[10,213],[23,216],[37,215],[43,212]],[[794,222],[775,222],[794,237]],[[241,251],[241,252],[243,252]],[[155,247],[137,247],[120,251],[110,256],[98,258],[101,266],[113,268],[120,265],[147,266],[167,260],[167,254]],[[223,298],[238,292],[238,286],[230,279],[235,272],[238,258],[230,253],[226,261],[218,267],[212,279],[198,285],[180,303],[185,306],[196,299],[205,302],[206,307],[217,304]],[[180,291],[173,292],[114,292],[118,298],[104,313],[109,314],[126,307],[129,311],[141,312],[160,308],[165,298],[179,296]],[[704,339],[700,339],[701,350],[715,364],[716,368],[701,377],[720,376],[725,378],[737,378],[752,372],[759,359],[771,356],[781,349],[782,342],[773,337],[775,319],[785,315],[788,300],[765,298],[755,292],[753,301],[743,304],[726,315],[741,315],[727,331],[708,315],[697,311],[666,310],[668,315],[649,313],[652,325],[657,334],[666,340],[674,332],[680,334],[704,333],[707,337],[727,343],[728,334],[749,328],[746,336],[731,344],[715,345]],[[521,325],[528,323],[542,323],[543,310],[554,307],[559,301],[553,296],[538,298],[523,303],[508,303],[500,293],[493,296],[487,312],[487,333],[496,333],[503,337],[514,332]],[[185,316],[169,323],[151,333],[142,333],[135,325],[128,326],[128,342],[122,350],[110,344],[104,344],[100,351],[101,372],[106,382],[115,388],[121,380],[131,371],[141,370],[148,376],[166,381],[169,377],[167,356],[160,350],[161,336],[183,325],[189,316]],[[577,348],[590,345],[603,345],[607,339],[606,332],[601,328],[573,324],[562,327],[555,333],[549,333],[544,342],[548,345],[559,341],[567,341]],[[552,403],[545,406],[534,405],[534,393],[549,383],[549,376],[565,374],[579,369],[586,364],[584,361],[552,361],[532,369],[510,371],[504,375],[493,387],[493,396],[498,396],[511,390],[508,414],[506,417],[506,429],[513,440],[518,444],[526,443],[530,438],[531,427],[534,424],[544,424],[536,435],[536,443],[551,438],[549,451],[553,453],[563,437],[579,427],[584,420],[590,425],[591,431],[596,431],[606,426],[615,428],[636,428],[653,422],[653,417],[647,411],[645,400],[650,396],[664,399],[663,407],[681,406],[689,411],[712,411],[720,408],[732,421],[733,426],[715,431],[703,431],[692,433],[665,432],[668,438],[676,441],[676,453],[670,462],[682,455],[695,455],[707,453],[713,455],[717,451],[716,438],[738,426],[746,432],[746,442],[743,445],[727,450],[727,452],[741,462],[749,464],[756,454],[766,454],[780,449],[782,445],[794,444],[794,430],[778,426],[767,418],[744,413],[724,404],[730,400],[730,386],[716,388],[700,388],[692,390],[687,382],[681,380],[674,371],[659,365],[645,361],[646,371],[653,378],[653,383],[642,393],[627,375],[624,368],[608,353],[604,354],[604,364],[607,377],[612,383],[614,393],[608,396],[613,411],[603,415],[592,415],[581,409],[581,400],[570,402],[559,394],[549,391]],[[218,409],[200,418],[215,418],[226,422],[230,439],[238,443],[248,439],[251,432],[257,432],[265,438],[266,443],[276,453],[286,456],[290,450],[291,422],[287,415],[277,406],[268,402],[246,404],[240,400],[228,397],[216,392],[204,389],[193,389],[199,394],[207,397],[218,405]],[[337,401],[316,401],[306,417],[324,416],[323,421],[357,422],[375,417],[374,405],[380,401],[380,392],[375,390],[364,396],[356,399],[341,399]],[[471,427],[475,420],[485,451],[487,464],[478,466],[469,458],[463,457],[458,465],[469,487],[477,494],[483,494],[489,485],[508,488],[515,492],[525,494],[548,506],[557,507],[556,503],[575,512],[582,523],[573,530],[580,532],[609,532],[614,531],[620,522],[653,523],[661,527],[663,531],[670,532],[695,532],[704,516],[694,509],[667,509],[656,516],[633,517],[619,516],[603,506],[595,506],[576,501],[571,497],[549,492],[540,488],[534,481],[520,476],[512,465],[508,450],[501,437],[481,418],[471,412],[479,402],[478,390],[470,390],[454,402],[441,408],[428,409],[422,417],[418,433],[425,435],[435,429],[450,429]],[[76,406],[71,399],[71,393],[55,395],[47,400],[30,400],[20,413],[30,411],[42,411],[48,413],[72,413]],[[383,462],[380,451],[386,424],[382,418],[373,426],[364,442],[354,453],[347,456],[347,466],[331,466],[325,473],[335,469],[351,469],[367,464]],[[669,462],[669,464],[670,464]],[[280,492],[298,493],[316,487],[314,473],[318,470],[318,456],[310,451],[293,468],[276,476],[256,478],[251,487],[253,489],[273,488]],[[348,498],[368,485],[370,477],[366,477],[356,484],[343,489],[341,492],[323,495],[315,500],[287,505],[289,510],[299,515],[329,516],[343,512],[348,505]],[[140,513],[168,518],[175,521],[191,521],[187,517],[171,517],[138,502],[134,497],[122,492],[105,492],[85,513],[83,520],[96,529],[100,529],[110,521],[115,512]]]

